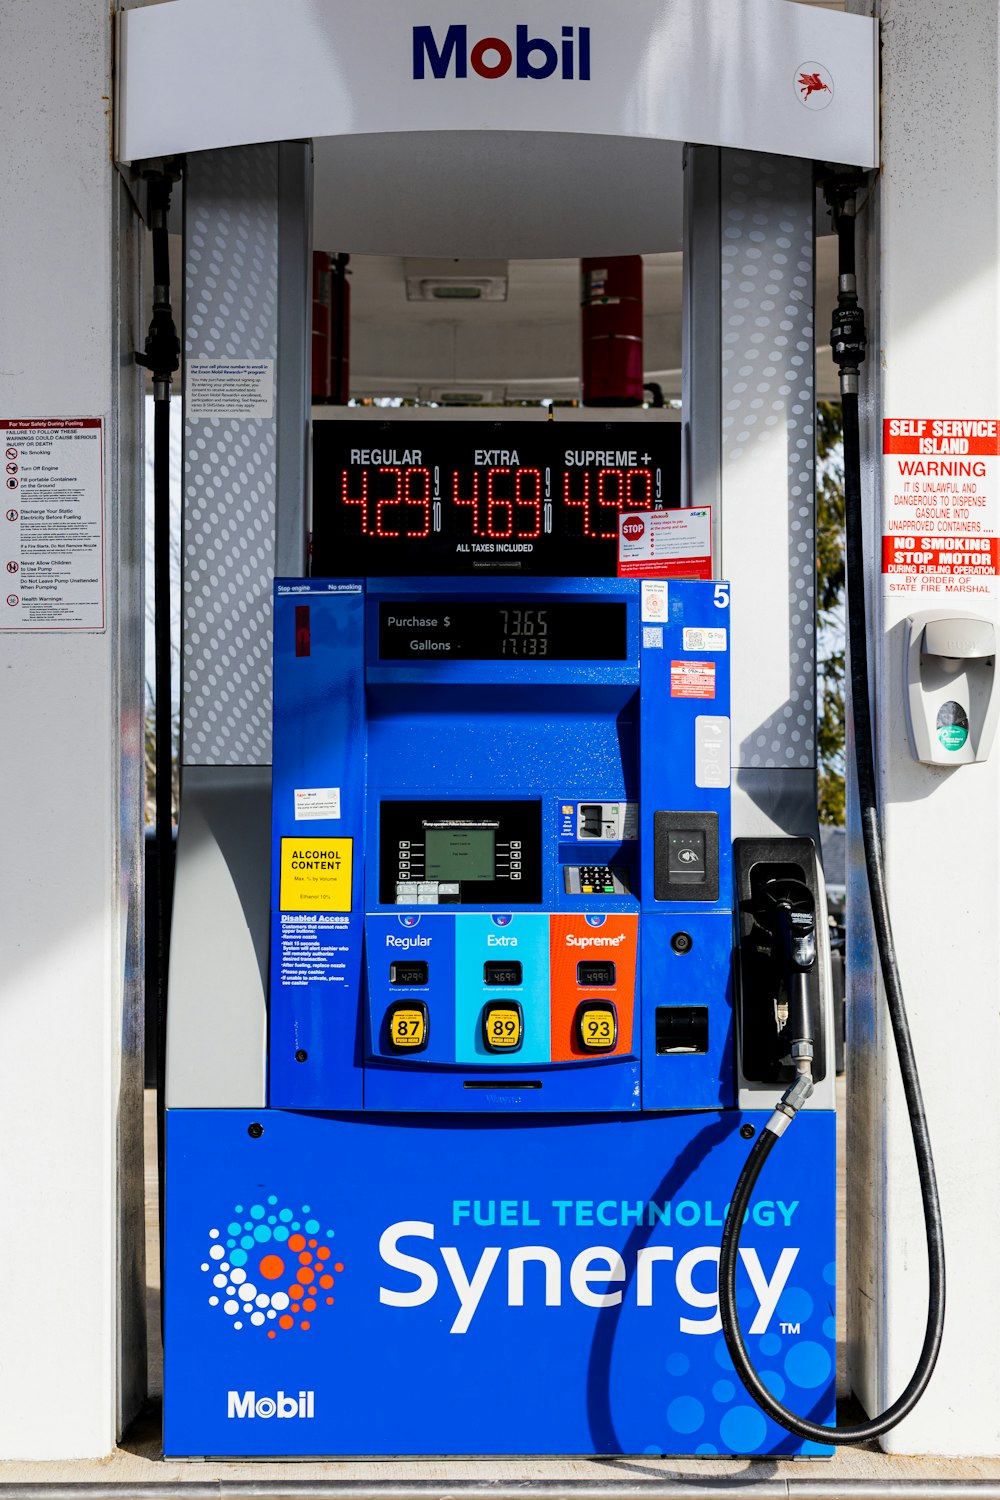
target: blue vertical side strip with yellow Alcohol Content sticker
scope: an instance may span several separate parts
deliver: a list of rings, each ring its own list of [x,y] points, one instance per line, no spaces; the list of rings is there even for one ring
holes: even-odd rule
[[[274,585],[268,1100],[283,1108],[361,1108],[363,610],[358,582]],[[336,909],[282,900],[282,850],[331,848],[351,861],[324,892]]]

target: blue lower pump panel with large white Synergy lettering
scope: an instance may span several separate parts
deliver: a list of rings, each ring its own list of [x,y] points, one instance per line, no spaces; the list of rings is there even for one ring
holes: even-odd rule
[[[754,1407],[718,1326],[765,1118],[171,1112],[166,1455],[823,1452]],[[769,1388],[820,1422],[834,1140],[807,1112],[775,1148],[739,1292]]]

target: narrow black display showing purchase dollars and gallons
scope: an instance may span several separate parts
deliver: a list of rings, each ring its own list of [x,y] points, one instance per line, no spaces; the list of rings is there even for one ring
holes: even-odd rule
[[[627,606],[400,600],[378,606],[382,662],[624,662]]]

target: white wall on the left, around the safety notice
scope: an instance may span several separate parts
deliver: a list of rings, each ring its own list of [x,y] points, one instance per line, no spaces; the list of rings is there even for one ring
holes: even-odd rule
[[[109,75],[106,0],[6,8],[0,417],[105,420],[109,608],[0,636],[0,1458],[106,1454],[144,1384],[142,330]]]

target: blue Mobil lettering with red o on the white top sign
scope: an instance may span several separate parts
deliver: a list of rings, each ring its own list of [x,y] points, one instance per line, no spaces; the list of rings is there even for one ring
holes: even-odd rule
[[[517,26],[510,40],[502,36],[469,38],[468,26],[448,26],[435,34],[432,26],[414,27],[414,78],[591,78],[589,26],[564,26],[558,34],[532,36],[532,27]]]

